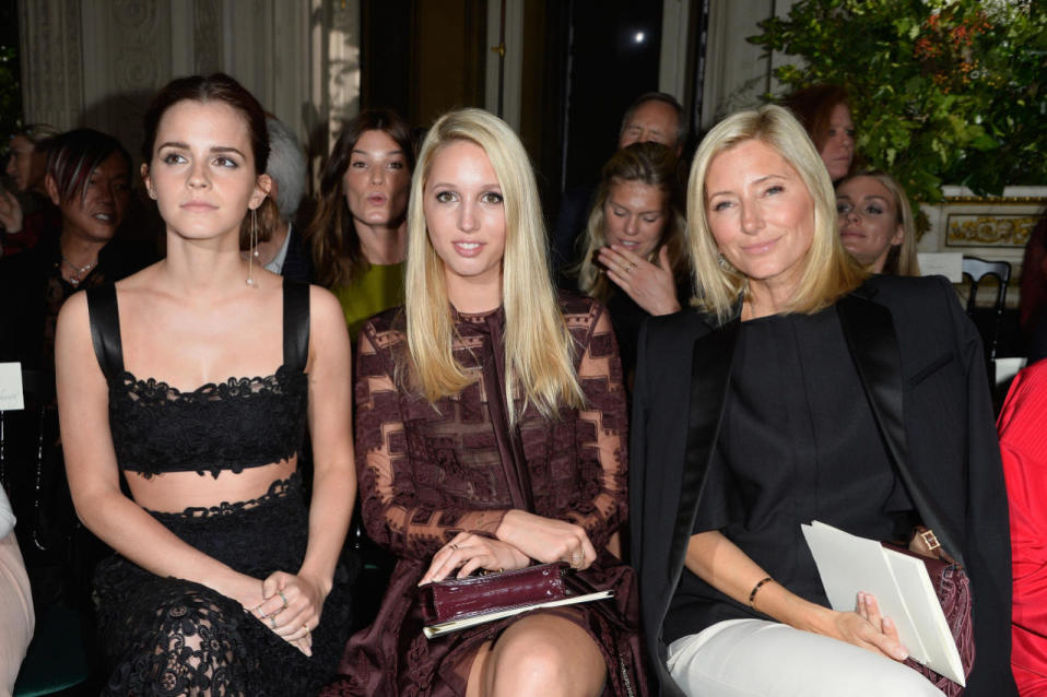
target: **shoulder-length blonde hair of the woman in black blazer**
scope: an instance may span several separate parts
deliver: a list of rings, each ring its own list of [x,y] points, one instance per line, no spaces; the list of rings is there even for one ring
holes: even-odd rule
[[[775,105],[727,117],[709,131],[694,156],[687,184],[687,224],[695,305],[724,321],[748,293],[749,279],[722,261],[717,249],[707,215],[705,179],[718,155],[751,140],[773,149],[796,169],[814,201],[814,240],[803,259],[799,285],[785,310],[816,312],[858,287],[868,273],[839,241],[836,194],[825,164],[796,117]]]

